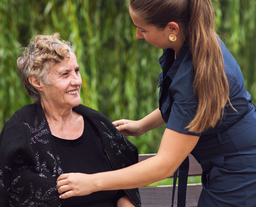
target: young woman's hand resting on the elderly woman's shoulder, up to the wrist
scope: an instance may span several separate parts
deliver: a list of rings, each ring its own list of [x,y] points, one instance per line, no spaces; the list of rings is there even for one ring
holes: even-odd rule
[[[140,136],[145,132],[142,130],[141,121],[132,121],[127,119],[117,120],[112,124],[124,135],[124,136]]]

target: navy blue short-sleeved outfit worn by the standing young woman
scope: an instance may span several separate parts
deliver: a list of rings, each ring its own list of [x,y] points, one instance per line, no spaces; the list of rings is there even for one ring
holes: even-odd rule
[[[256,206],[256,110],[234,57],[218,39],[230,88],[225,116],[216,127],[203,133],[188,132],[198,100],[193,93],[193,66],[189,44],[184,42],[174,60],[174,51],[165,49],[159,58],[159,108],[166,127],[199,136],[191,154],[203,169],[200,207]],[[200,58],[200,57],[199,57]]]

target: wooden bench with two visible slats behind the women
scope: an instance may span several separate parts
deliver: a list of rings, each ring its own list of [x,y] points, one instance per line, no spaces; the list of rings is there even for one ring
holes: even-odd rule
[[[154,156],[155,154],[139,154],[139,162]],[[189,154],[189,176],[201,175],[202,168],[195,158]],[[139,188],[141,195],[142,207],[167,207],[172,204],[173,185],[162,185],[154,187]],[[174,207],[177,207],[177,190],[176,186]],[[186,207],[197,207],[197,202],[202,190],[202,184],[188,184]]]

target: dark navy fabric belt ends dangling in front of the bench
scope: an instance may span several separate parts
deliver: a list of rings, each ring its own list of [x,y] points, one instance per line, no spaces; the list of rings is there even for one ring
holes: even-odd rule
[[[187,177],[189,171],[189,157],[181,163],[179,168],[175,171],[173,176],[173,189],[172,189],[172,206],[174,205],[174,195],[176,188],[177,175],[179,171],[179,184],[178,184],[178,196],[177,207],[185,207],[186,205],[186,193],[187,193]]]

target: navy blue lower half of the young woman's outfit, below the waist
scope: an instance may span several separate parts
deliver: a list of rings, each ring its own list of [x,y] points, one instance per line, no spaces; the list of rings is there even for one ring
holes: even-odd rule
[[[198,207],[256,206],[256,109],[226,131],[200,137],[191,152],[203,169]]]

